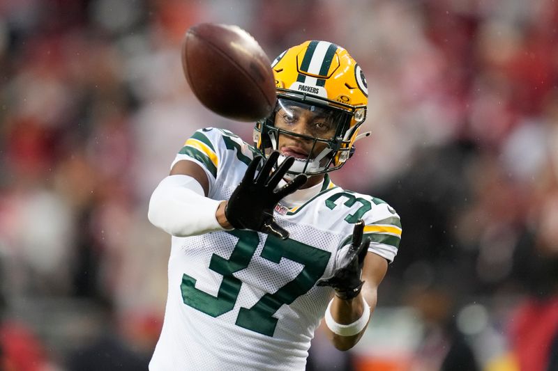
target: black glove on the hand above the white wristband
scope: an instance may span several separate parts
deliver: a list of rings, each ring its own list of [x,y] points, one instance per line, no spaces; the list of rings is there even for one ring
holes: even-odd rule
[[[331,286],[335,289],[335,295],[340,299],[353,299],[361,292],[363,281],[361,281],[362,266],[364,258],[370,246],[368,237],[363,241],[362,234],[364,222],[359,220],[353,229],[353,240],[348,247],[345,256],[335,261],[333,274],[328,278],[321,278],[317,281],[318,286]],[[342,252],[340,250],[340,252]]]

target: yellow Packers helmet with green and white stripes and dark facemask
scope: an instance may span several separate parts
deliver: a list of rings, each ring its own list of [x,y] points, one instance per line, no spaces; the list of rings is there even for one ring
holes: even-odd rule
[[[354,142],[370,134],[359,136],[368,104],[368,86],[360,66],[342,47],[309,40],[282,52],[271,67],[278,104],[269,118],[255,125],[253,139],[257,149],[266,156],[266,149],[278,149],[281,134],[299,136],[312,140],[314,147],[318,142],[326,143],[326,148],[306,159],[296,159],[290,174],[315,175],[340,168],[352,156]],[[333,138],[310,138],[276,127],[276,113],[292,104],[312,111],[329,111],[335,120]]]

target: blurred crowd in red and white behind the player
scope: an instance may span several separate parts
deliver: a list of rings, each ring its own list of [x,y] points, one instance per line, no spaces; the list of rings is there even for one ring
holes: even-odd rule
[[[379,308],[421,316],[413,370],[458,370],[463,344],[486,370],[558,370],[553,0],[0,0],[0,369],[146,367],[169,254],[151,191],[195,129],[251,138],[183,78],[198,22],[363,68],[372,136],[332,179],[402,218]]]

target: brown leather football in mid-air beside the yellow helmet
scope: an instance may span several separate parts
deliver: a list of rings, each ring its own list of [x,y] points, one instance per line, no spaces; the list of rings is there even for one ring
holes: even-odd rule
[[[197,99],[220,116],[253,122],[275,107],[269,58],[239,26],[192,26],[182,45],[182,67]]]

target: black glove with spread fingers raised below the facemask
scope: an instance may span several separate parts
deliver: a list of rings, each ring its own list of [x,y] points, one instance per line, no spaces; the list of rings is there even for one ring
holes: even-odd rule
[[[273,219],[273,209],[281,198],[292,194],[306,183],[306,175],[297,175],[292,182],[276,191],[277,184],[294,162],[294,157],[287,157],[281,166],[271,173],[278,157],[279,152],[271,152],[257,177],[256,169],[262,156],[255,156],[248,164],[242,182],[236,187],[225,207],[225,216],[234,228],[256,230],[276,235],[280,239],[289,237],[289,232],[278,226]]]

